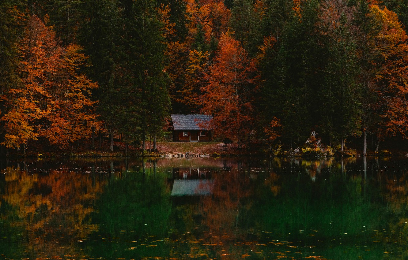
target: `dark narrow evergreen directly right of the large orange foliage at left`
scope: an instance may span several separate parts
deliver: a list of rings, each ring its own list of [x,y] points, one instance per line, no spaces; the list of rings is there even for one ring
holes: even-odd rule
[[[120,53],[118,46],[123,45],[122,20],[119,2],[116,0],[90,0],[84,11],[88,19],[80,29],[79,40],[84,46],[93,64],[89,75],[97,81],[100,88],[94,97],[99,100],[98,113],[111,135],[113,151],[113,134],[117,130],[122,111],[122,95],[118,82],[122,79],[120,70]]]

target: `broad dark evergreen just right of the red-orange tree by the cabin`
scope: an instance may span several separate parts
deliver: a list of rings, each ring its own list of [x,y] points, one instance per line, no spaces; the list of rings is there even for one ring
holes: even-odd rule
[[[306,138],[317,122],[312,99],[322,82],[324,62],[315,35],[317,7],[317,1],[309,0],[293,12],[275,52],[273,77],[267,77],[264,86],[268,121],[274,116],[280,119],[282,138],[291,144]]]

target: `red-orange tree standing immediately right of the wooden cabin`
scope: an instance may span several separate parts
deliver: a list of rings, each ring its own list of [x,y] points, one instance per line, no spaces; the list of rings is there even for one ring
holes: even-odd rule
[[[255,60],[229,34],[220,38],[217,56],[202,88],[202,112],[214,116],[216,133],[237,139],[239,147],[251,132],[253,97],[257,90]]]

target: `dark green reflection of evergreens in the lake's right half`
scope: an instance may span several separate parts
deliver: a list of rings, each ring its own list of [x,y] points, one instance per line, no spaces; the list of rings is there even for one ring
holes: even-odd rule
[[[345,170],[346,166],[350,171]],[[292,254],[295,258],[311,255],[315,249],[309,246],[324,248],[319,250],[320,255],[328,259],[351,259],[356,255],[377,259],[381,255],[377,245],[369,251],[363,247],[373,245],[371,236],[379,225],[380,212],[373,204],[379,198],[378,190],[366,187],[362,164],[357,166],[347,159],[295,159],[273,169],[281,176],[279,195],[269,195],[265,203],[259,198],[259,204],[254,205],[259,210],[256,216],[262,216],[257,223],[263,223],[255,229],[266,231],[261,241],[303,245],[302,256]]]

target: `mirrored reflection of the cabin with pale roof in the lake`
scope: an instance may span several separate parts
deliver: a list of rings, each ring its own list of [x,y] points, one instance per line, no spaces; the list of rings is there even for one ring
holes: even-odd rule
[[[213,194],[214,181],[208,168],[173,168],[171,196],[208,196]]]

